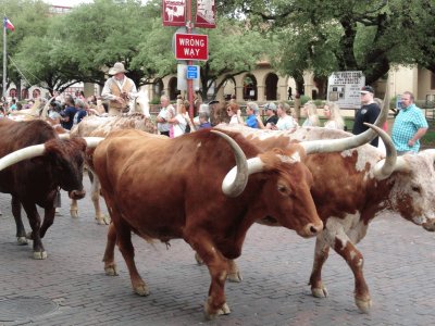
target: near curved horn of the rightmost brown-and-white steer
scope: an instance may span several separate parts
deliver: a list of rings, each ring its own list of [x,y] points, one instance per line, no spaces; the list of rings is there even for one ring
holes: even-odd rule
[[[385,133],[377,126],[368,123],[364,124],[374,129],[385,143],[385,149],[387,153],[386,158],[376,163],[376,165],[373,168],[373,175],[378,180],[386,179],[396,170],[397,150],[394,147],[393,140],[387,133]]]

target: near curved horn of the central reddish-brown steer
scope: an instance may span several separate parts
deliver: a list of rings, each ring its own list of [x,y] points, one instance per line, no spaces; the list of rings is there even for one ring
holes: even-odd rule
[[[217,130],[211,130],[211,133],[224,138],[233,149],[236,166],[226,174],[222,181],[222,191],[227,197],[237,197],[245,190],[248,184],[248,162],[245,153],[237,142],[228,135]]]

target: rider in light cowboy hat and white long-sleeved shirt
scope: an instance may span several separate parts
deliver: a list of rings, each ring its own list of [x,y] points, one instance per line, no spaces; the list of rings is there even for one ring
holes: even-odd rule
[[[109,101],[109,115],[121,115],[128,101],[137,97],[135,83],[125,76],[127,71],[122,62],[116,62],[110,70],[110,77],[101,92],[101,98]]]

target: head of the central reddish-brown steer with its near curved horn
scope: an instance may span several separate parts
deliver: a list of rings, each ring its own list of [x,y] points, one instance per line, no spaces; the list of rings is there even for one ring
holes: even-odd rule
[[[302,147],[295,145],[289,150],[275,149],[246,160],[229,136],[217,130],[212,133],[229,143],[236,158],[237,165],[222,183],[222,190],[227,197],[241,195],[249,178],[252,180],[251,193],[248,195],[252,201],[249,210],[254,212],[256,218],[271,216],[302,237],[315,236],[323,229],[310,193],[312,175],[300,161],[301,153],[304,154]]]

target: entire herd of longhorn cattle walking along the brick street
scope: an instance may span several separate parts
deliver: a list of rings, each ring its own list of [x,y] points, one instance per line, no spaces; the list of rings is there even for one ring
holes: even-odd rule
[[[209,268],[207,319],[229,313],[225,281],[241,281],[235,259],[253,223],[316,237],[309,278],[314,297],[327,296],[322,267],[333,248],[353,273],[357,306],[369,312],[363,256],[356,247],[369,223],[389,210],[435,230],[435,150],[397,156],[380,128],[387,111],[385,105],[375,125],[358,136],[320,127],[289,133],[219,125],[170,139],[156,135],[148,115],[128,114],[86,117],[61,137],[41,118],[0,118],[0,191],[12,197],[18,244],[33,240],[34,258],[44,260],[41,239],[54,221],[57,195],[69,192],[77,217],[87,170],[96,220],[109,224],[105,273],[117,274],[116,244],[134,291],[147,296],[132,233],[165,243],[182,238]],[[377,134],[386,154],[368,143]],[[110,220],[101,213],[100,195]]]

